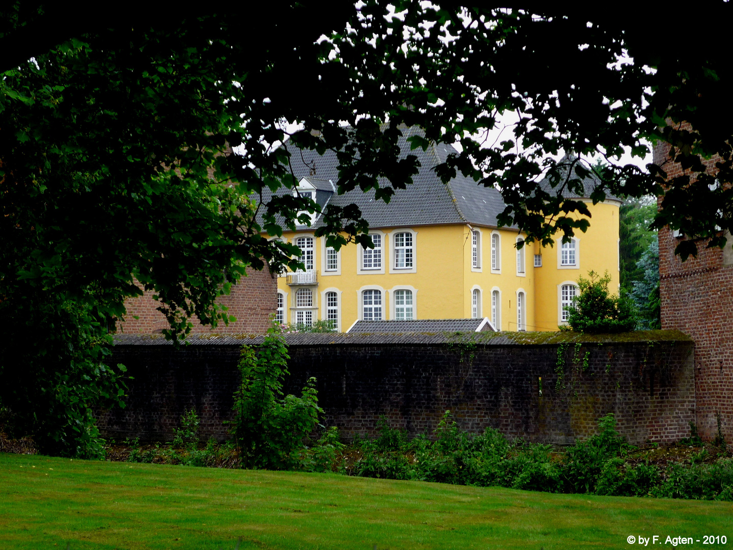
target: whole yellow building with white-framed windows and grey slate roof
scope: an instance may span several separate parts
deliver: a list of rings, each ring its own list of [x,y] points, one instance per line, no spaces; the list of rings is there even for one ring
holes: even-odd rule
[[[401,149],[409,151],[408,144]],[[303,251],[306,270],[279,276],[277,319],[286,324],[331,320],[347,331],[359,319],[487,317],[498,330],[557,330],[578,276],[608,271],[611,288],[618,287],[619,200],[592,205],[584,199],[591,227],[572,243],[553,248],[531,243],[517,250],[523,235],[497,227],[504,202],[496,189],[460,173],[446,185],[432,171],[453,152],[444,144],[411,151],[421,163],[419,175],[388,204],[358,188],[336,194],[334,154],[292,155],[298,190],[311,193],[322,208],[356,203],[369,221],[375,248],[327,249],[325,238],[314,236],[317,216],[311,227],[284,234]],[[594,182],[584,183],[587,196]]]

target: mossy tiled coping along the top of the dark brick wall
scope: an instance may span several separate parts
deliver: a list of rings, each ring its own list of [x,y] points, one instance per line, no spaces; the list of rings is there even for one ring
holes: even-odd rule
[[[188,345],[257,345],[262,334],[195,334]],[[563,343],[693,342],[680,331],[634,331],[620,334],[583,334],[580,332],[291,332],[288,345],[398,345],[469,344],[476,345],[558,345]],[[116,334],[115,345],[172,345],[163,334]]]

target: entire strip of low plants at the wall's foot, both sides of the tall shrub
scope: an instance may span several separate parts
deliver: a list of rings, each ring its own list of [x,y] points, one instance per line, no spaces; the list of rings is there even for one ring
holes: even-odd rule
[[[346,445],[339,441],[338,430],[331,427],[323,430],[312,445],[299,445],[287,462],[273,464],[275,469],[550,493],[733,501],[733,458],[725,442],[716,440],[705,445],[693,424],[690,437],[677,446],[651,445],[643,449],[627,444],[619,436],[613,414],[599,419],[596,435],[564,450],[548,444],[509,441],[493,428],[479,434],[466,433],[457,427],[449,411],[432,438],[421,434],[410,439],[405,430],[392,428],[384,417],[377,422],[377,433],[373,439],[357,438]],[[128,453],[120,453],[117,459],[245,466],[234,444],[218,445],[213,440],[205,447],[190,442],[186,445],[184,441],[178,447],[149,445],[146,449],[133,441]],[[249,467],[262,463],[250,459]]]

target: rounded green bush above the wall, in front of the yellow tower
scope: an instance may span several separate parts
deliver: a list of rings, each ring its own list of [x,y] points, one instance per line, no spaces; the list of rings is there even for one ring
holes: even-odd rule
[[[574,331],[588,333],[627,332],[636,329],[633,304],[626,297],[609,296],[608,271],[600,276],[590,271],[589,278],[578,279],[580,294],[568,307],[567,324]]]

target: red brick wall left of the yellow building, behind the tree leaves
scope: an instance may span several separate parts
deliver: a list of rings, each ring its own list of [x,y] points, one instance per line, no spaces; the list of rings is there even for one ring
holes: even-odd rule
[[[125,321],[118,323],[117,331],[125,334],[152,334],[169,327],[168,321],[156,307],[158,301],[152,299],[152,290],[143,296],[128,298],[125,302],[128,313]],[[258,334],[267,331],[270,315],[277,309],[277,279],[270,275],[265,266],[263,271],[247,270],[247,276],[232,285],[229,296],[220,296],[218,303],[229,308],[229,315],[237,318],[235,323],[225,326],[220,323],[213,332],[218,334]],[[137,319],[135,318],[137,317]],[[192,332],[210,332],[210,326],[203,326],[199,320],[192,319]]]

